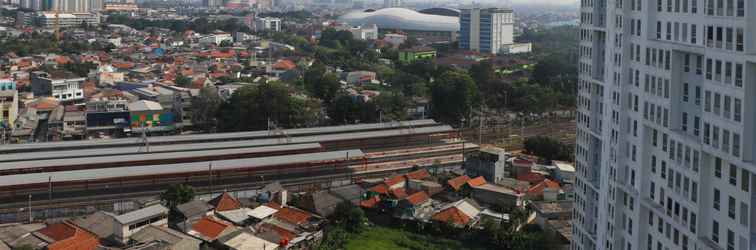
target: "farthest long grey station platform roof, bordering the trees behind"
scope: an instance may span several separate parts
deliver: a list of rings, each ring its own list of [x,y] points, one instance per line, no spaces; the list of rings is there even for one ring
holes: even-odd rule
[[[298,128],[298,129],[285,129],[284,132],[289,136],[297,135],[311,135],[311,134],[327,134],[327,133],[344,133],[355,132],[362,130],[377,130],[377,129],[396,129],[398,127],[406,128],[407,126],[429,126],[437,124],[436,121],[431,119],[426,120],[412,120],[403,121],[400,123],[370,123],[370,124],[358,124],[358,125],[345,125],[345,126],[329,126],[329,127],[315,127],[315,128]],[[416,128],[418,129],[418,128]],[[193,141],[221,141],[221,140],[243,140],[252,138],[265,138],[270,137],[270,131],[248,131],[248,132],[232,132],[232,133],[215,133],[215,134],[196,134],[196,135],[175,135],[175,136],[157,136],[150,137],[150,143],[181,143],[181,142],[193,142]],[[0,153],[8,151],[18,150],[50,150],[60,148],[75,148],[75,147],[115,147],[115,146],[127,146],[138,144],[139,140],[136,138],[124,138],[124,139],[104,139],[104,140],[84,140],[84,141],[64,141],[64,142],[45,142],[45,143],[26,143],[26,144],[11,144],[0,146]]]

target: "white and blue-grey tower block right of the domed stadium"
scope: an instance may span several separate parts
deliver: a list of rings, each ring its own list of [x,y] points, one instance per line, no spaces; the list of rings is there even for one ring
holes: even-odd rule
[[[511,9],[463,9],[459,23],[461,49],[498,54],[514,44]]]

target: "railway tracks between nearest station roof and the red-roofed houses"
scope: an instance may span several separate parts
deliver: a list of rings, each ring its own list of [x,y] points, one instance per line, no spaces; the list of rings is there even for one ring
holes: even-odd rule
[[[288,173],[283,175],[277,175],[275,173],[261,173],[260,176],[265,178],[259,178],[256,180],[243,180],[243,179],[226,179],[224,184],[212,184],[212,180],[193,181],[188,184],[194,186],[196,191],[200,194],[208,194],[217,192],[220,188],[226,191],[243,191],[243,190],[255,190],[259,189],[265,184],[273,181],[280,181],[284,186],[297,191],[298,189],[310,189],[313,185],[321,186],[323,184],[330,185],[331,183],[338,181],[350,181],[354,182],[363,178],[378,178],[386,177],[400,172],[406,172],[415,166],[421,167],[444,167],[449,165],[458,165],[462,162],[462,156],[440,156],[429,157],[415,160],[404,161],[390,161],[380,164],[363,164],[363,165],[351,165],[347,168],[338,170],[322,170],[322,171],[308,171],[301,173]],[[320,174],[316,174],[319,172]],[[295,175],[297,175],[295,177]],[[82,215],[91,212],[94,209],[112,210],[115,203],[135,200],[139,198],[155,198],[159,195],[165,187],[176,183],[164,183],[162,188],[160,186],[148,185],[148,186],[132,186],[126,187],[113,187],[110,190],[102,190],[102,194],[76,197],[76,194],[62,194],[54,193],[52,200],[46,200],[48,196],[44,193],[36,194],[33,196],[35,199],[31,202],[32,211],[35,214],[35,218],[45,217],[47,219],[55,219],[62,217],[71,217]],[[211,190],[210,187],[213,187]],[[145,188],[150,190],[145,190]],[[118,190],[120,189],[120,190]],[[114,193],[114,191],[116,191]],[[73,195],[73,197],[71,197]],[[38,198],[41,197],[41,198]],[[0,223],[28,221],[28,209],[30,204],[24,197],[18,197],[17,199],[0,199]],[[71,212],[55,212],[54,210],[68,210],[76,211],[73,214]]]

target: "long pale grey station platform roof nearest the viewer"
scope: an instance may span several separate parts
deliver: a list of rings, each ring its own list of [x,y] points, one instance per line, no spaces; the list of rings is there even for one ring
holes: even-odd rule
[[[74,171],[61,171],[50,173],[34,173],[0,176],[0,187],[24,184],[47,183],[48,178],[53,182],[85,181],[119,177],[135,177],[145,175],[174,174],[188,172],[204,172],[212,163],[213,170],[229,170],[253,168],[261,166],[277,166],[296,163],[319,162],[329,160],[357,159],[365,156],[361,150],[343,150],[322,153],[296,154],[284,156],[260,157],[253,159],[236,159],[212,162],[191,162],[180,164],[147,165],[135,167],[119,167],[105,169],[87,169]]]

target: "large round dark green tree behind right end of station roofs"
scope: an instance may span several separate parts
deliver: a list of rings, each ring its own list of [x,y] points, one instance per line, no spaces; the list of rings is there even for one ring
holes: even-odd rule
[[[459,124],[469,118],[472,109],[480,105],[478,88],[469,75],[448,71],[431,84],[431,112],[437,120]]]

